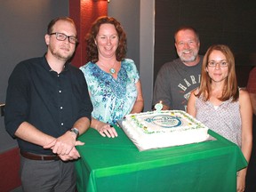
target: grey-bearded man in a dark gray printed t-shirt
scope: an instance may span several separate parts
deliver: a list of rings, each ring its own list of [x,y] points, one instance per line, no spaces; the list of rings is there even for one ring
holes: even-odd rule
[[[160,68],[152,104],[162,102],[164,110],[186,111],[190,92],[200,84],[203,57],[198,55],[200,40],[195,28],[180,27],[174,34],[174,41],[179,59]]]

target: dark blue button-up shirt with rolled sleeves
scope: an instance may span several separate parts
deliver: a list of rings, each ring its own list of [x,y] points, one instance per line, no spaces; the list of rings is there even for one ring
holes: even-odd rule
[[[14,133],[23,122],[57,138],[73,127],[80,117],[91,120],[92,102],[78,68],[66,63],[58,74],[52,71],[45,56],[20,62],[9,78],[4,123],[6,131]],[[28,132],[29,134],[29,132]],[[20,149],[36,154],[52,154],[17,138]]]

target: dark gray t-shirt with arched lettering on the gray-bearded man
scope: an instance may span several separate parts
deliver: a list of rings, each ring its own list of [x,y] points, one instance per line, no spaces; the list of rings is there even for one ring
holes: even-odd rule
[[[180,59],[165,63],[156,76],[152,104],[162,100],[170,109],[187,111],[190,93],[200,84],[202,61],[200,56],[199,63],[192,67]]]

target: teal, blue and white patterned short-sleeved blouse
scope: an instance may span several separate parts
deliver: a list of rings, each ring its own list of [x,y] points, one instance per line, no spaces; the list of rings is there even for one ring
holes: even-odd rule
[[[125,59],[121,62],[117,79],[92,62],[80,69],[88,84],[93,118],[116,124],[117,120],[131,113],[138,95],[135,84],[140,78],[133,60]]]

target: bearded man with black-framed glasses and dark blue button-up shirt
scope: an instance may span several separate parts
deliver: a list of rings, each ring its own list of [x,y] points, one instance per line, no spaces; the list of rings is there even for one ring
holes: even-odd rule
[[[76,50],[76,26],[52,20],[47,52],[21,61],[7,88],[4,123],[20,147],[23,191],[76,191],[77,137],[91,121],[92,103],[81,70],[68,60]]]

